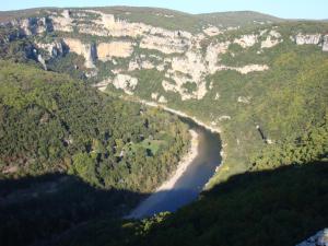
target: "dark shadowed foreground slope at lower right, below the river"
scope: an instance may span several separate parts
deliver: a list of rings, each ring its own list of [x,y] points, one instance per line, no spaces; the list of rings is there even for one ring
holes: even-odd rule
[[[175,213],[98,220],[60,245],[293,246],[327,226],[327,162],[245,173]]]

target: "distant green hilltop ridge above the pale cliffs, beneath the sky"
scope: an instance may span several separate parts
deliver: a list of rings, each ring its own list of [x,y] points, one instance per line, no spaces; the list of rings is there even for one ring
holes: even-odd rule
[[[70,9],[79,10],[81,8]],[[202,27],[207,25],[222,25],[224,27],[249,25],[254,26],[261,23],[276,23],[281,21],[281,19],[276,16],[250,11],[189,14],[175,10],[144,7],[97,7],[85,9],[93,9],[102,11],[104,13],[115,14],[115,16],[117,16],[118,19],[128,20],[129,22],[142,22],[144,24],[160,26],[172,31],[184,30],[191,33],[201,32]],[[46,8],[2,11],[0,12],[0,22],[9,22],[17,17],[38,16],[44,14],[46,10],[59,12],[62,9]]]

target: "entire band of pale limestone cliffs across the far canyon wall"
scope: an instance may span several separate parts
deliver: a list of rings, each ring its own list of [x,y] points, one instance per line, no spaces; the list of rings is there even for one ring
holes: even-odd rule
[[[161,78],[159,83],[163,90],[177,93],[183,101],[202,99],[213,89],[213,83],[208,84],[207,79],[219,71],[232,70],[244,75],[270,69],[265,63],[243,63],[239,67],[223,63],[224,54],[233,58],[238,52],[231,48],[232,44],[238,44],[246,52],[253,47],[257,49],[257,55],[261,55],[263,49],[270,49],[283,42],[278,26],[230,36],[230,31],[237,27],[203,23],[199,33],[191,34],[181,30],[171,31],[130,22],[99,10],[48,10],[45,13],[45,16],[7,23],[11,27],[17,27],[19,34],[8,37],[5,42],[26,35],[31,39],[36,37],[35,47],[44,51],[32,54],[33,59],[38,60],[45,69],[48,59],[60,58],[66,52],[82,56],[85,60],[85,68],[82,68],[85,69],[85,77],[98,80],[97,86],[102,90],[113,83],[117,89],[132,94],[141,71],[152,70],[149,72]],[[56,32],[56,38],[48,38],[46,33],[52,31]],[[92,43],[91,39],[95,42]],[[297,45],[321,45],[323,50],[328,51],[328,35],[300,33],[293,40]],[[35,47],[27,51],[33,52]],[[97,68],[96,65],[101,66]],[[108,78],[104,80],[107,74]],[[132,74],[137,78],[131,77]],[[157,93],[153,99],[165,103],[166,95]],[[218,101],[220,95],[216,93],[212,97]],[[237,99],[239,103],[246,101],[248,99],[244,97]]]

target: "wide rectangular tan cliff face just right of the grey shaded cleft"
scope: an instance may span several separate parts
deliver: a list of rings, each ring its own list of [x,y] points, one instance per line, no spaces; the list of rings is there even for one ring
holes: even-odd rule
[[[130,42],[101,43],[97,45],[97,57],[102,61],[110,60],[113,57],[127,58],[133,52]]]

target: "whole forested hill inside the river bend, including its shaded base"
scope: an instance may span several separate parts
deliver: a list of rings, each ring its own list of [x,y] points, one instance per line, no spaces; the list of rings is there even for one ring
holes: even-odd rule
[[[140,199],[175,169],[188,148],[187,130],[176,116],[160,109],[99,94],[68,75],[1,61],[0,218],[4,223],[0,234],[10,235],[13,241],[21,233],[28,234],[28,238],[47,236],[51,230],[60,231],[90,218],[84,213],[91,206],[95,206],[93,210],[101,208],[90,214],[110,209],[114,212],[120,206],[125,206],[120,213],[126,211],[138,201],[132,195],[129,201],[129,194],[140,194]],[[20,187],[19,191],[14,187]],[[81,194],[67,194],[75,189],[81,189]],[[117,190],[125,196],[117,195]],[[45,197],[21,202],[20,192],[25,197]],[[55,195],[47,198],[47,192]],[[61,196],[77,208],[67,210],[67,204],[56,200]],[[84,196],[86,203],[79,204]],[[48,199],[54,199],[49,206],[56,208],[60,220],[68,220],[80,210],[81,214],[75,214],[69,224],[57,221],[45,225],[47,218],[48,222],[55,219],[43,204]],[[107,209],[103,208],[104,200]],[[25,209],[19,209],[21,206]],[[26,222],[38,218],[45,224],[37,223],[32,231]],[[16,245],[23,242],[17,241]]]

